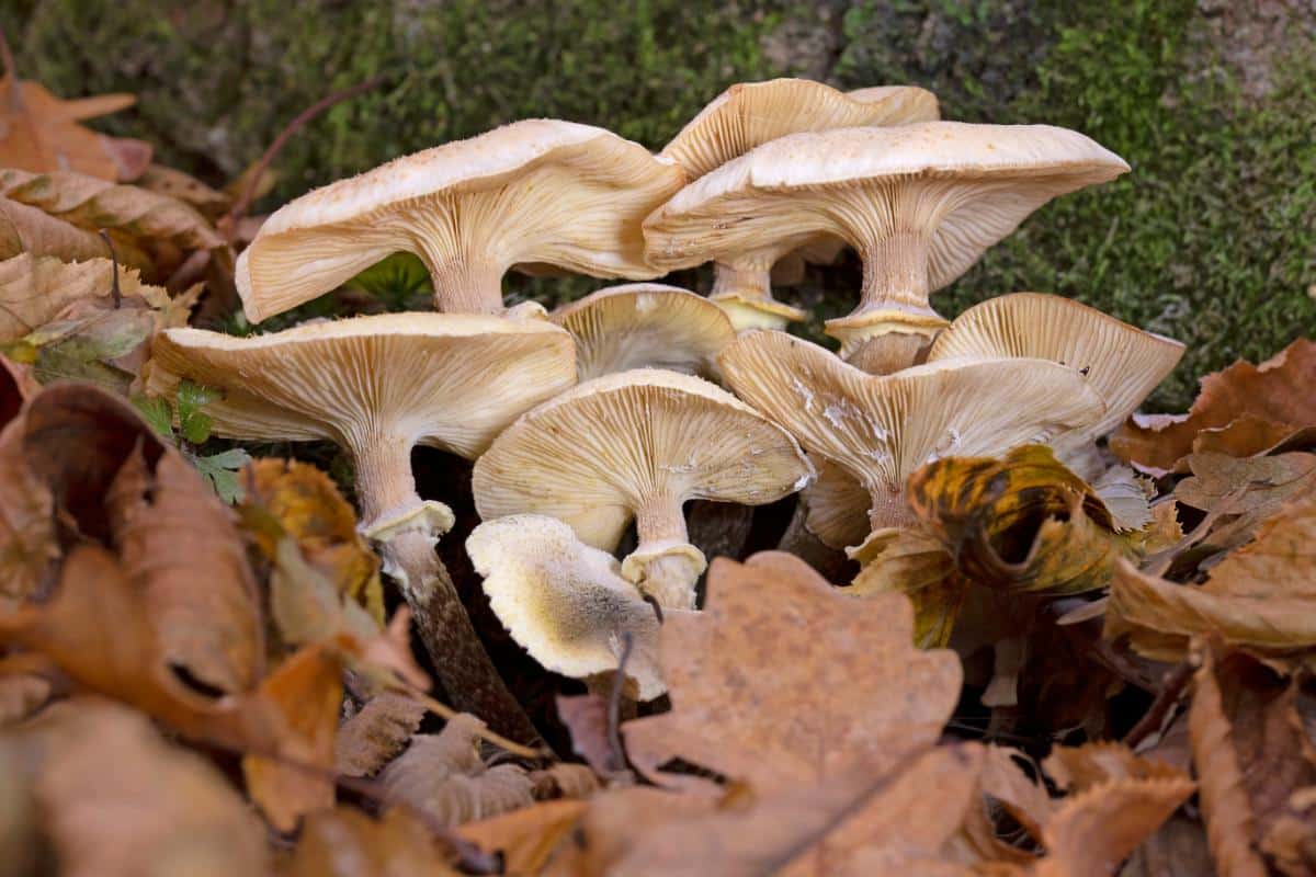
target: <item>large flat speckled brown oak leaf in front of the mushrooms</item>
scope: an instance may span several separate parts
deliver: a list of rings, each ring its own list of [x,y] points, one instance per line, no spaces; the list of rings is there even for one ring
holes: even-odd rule
[[[890,769],[937,739],[959,693],[955,656],[912,631],[900,594],[846,596],[782,552],[719,557],[704,611],[662,627],[672,710],[622,726],[630,757],[665,781],[680,757],[765,792]]]

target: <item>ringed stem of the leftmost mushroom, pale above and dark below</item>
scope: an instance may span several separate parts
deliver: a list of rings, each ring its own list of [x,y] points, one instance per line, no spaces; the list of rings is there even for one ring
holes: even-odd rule
[[[443,690],[458,709],[476,714],[501,734],[521,742],[536,739],[538,732],[490,660],[447,568],[434,552],[436,526],[422,513],[426,504],[416,493],[411,471],[412,442],[384,434],[353,444],[367,533],[372,526],[404,521],[411,510],[421,511],[413,522],[380,538],[379,552],[384,572],[397,581],[412,609]]]

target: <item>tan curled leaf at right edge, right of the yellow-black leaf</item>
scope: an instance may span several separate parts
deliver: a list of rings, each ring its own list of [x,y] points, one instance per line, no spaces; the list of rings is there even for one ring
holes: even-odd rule
[[[1105,635],[1129,635],[1157,660],[1179,660],[1194,635],[1277,655],[1316,646],[1316,493],[1283,506],[1255,542],[1227,556],[1204,585],[1116,568]]]

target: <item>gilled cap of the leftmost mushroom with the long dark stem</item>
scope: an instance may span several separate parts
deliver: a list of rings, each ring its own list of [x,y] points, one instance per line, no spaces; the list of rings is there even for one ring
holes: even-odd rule
[[[182,379],[224,393],[220,435],[411,439],[474,458],[521,412],[575,383],[571,337],[544,321],[407,313],[237,338],[168,329],[151,343],[147,391]]]

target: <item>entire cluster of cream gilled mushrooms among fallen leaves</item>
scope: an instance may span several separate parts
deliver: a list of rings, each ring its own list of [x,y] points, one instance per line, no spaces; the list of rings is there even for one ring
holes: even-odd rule
[[[953,322],[929,302],[1046,201],[1126,170],[1076,131],[940,121],[909,87],[734,85],[658,154],[521,121],[311,192],[238,262],[253,323],[397,251],[425,263],[438,313],[166,330],[150,387],[221,391],[221,435],[345,448],[362,531],[449,696],[533,732],[436,554],[453,513],[418,496],[415,446],[475,460],[466,547],[512,636],[586,680],[625,652],[630,693],[653,698],[658,625],[697,611],[707,567],[690,500],[808,488],[819,538],[853,546],[911,526],[924,463],[1046,442],[1083,465],[1165,377],[1179,344],[1066,298],[1007,295]],[[826,323],[836,354],[784,331],[807,314],[771,287],[844,246],[865,271]],[[630,283],[545,313],[501,291],[508,270],[645,281],[709,262],[707,297]]]

